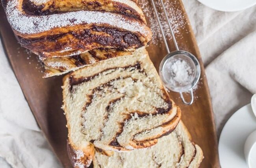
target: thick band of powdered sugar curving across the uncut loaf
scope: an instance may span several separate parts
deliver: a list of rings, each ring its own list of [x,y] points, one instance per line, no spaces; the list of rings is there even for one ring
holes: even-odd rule
[[[135,19],[127,19],[123,15],[101,11],[74,11],[47,16],[30,16],[18,10],[19,1],[7,2],[7,19],[12,28],[23,34],[35,34],[56,27],[74,26],[80,24],[102,24],[117,27],[131,32],[149,35],[145,24]]]

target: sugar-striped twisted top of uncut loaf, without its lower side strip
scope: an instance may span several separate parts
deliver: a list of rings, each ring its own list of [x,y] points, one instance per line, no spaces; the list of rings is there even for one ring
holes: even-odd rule
[[[41,58],[99,47],[130,51],[151,38],[140,7],[131,0],[7,0],[6,14],[20,44]]]

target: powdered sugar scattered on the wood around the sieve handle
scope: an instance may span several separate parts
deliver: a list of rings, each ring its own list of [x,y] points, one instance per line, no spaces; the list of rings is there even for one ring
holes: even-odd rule
[[[160,16],[160,20],[163,26],[163,29],[165,31],[165,35],[168,40],[171,40],[171,31],[168,27],[167,20],[165,18],[165,15],[163,13],[163,8],[161,7],[160,0],[154,0],[156,7],[158,8],[158,15]],[[173,28],[174,34],[176,38],[183,38],[182,33],[180,30],[185,30],[186,33],[189,33],[189,30],[186,29],[187,20],[186,17],[182,14],[182,10],[178,9],[177,6],[179,2],[177,0],[166,0],[164,2],[165,9],[167,11],[167,15],[169,16],[171,26]],[[150,3],[150,0],[142,0],[139,5],[141,6],[145,17],[147,18],[147,23],[150,29],[152,30],[152,44],[158,44],[162,40],[161,31],[159,28],[159,24],[156,20],[156,16],[154,13],[154,9]]]

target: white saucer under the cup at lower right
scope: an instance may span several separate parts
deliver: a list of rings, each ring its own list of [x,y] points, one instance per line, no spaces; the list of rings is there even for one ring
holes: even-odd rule
[[[256,118],[250,104],[243,106],[226,122],[219,139],[219,160],[222,168],[248,168],[243,146],[256,130]]]

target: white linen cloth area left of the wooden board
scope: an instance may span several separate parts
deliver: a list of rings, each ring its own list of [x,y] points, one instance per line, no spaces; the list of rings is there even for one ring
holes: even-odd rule
[[[37,126],[1,41],[0,71],[0,167],[61,167]]]

